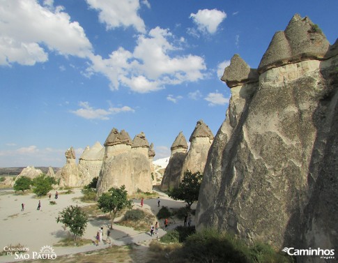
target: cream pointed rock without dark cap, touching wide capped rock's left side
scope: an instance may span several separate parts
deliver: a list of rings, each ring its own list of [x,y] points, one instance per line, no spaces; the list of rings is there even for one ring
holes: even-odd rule
[[[78,165],[79,172],[83,175],[81,182],[83,186],[91,183],[93,178],[100,175],[103,156],[105,156],[105,147],[100,142],[95,142],[91,148],[86,146]]]

